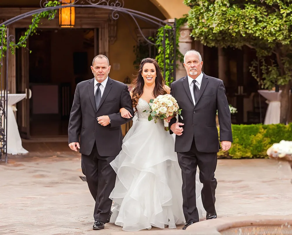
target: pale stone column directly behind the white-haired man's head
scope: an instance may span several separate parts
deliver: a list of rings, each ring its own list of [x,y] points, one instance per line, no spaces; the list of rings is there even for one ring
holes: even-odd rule
[[[180,27],[180,36],[179,36],[179,43],[177,50],[180,51],[183,55],[185,55],[185,52],[187,50],[192,49],[192,38],[190,36],[191,29],[187,26],[185,23],[183,26]],[[185,77],[187,75],[185,71],[185,67],[183,66],[183,63],[180,61],[176,62],[178,64],[178,68],[176,69],[176,80]]]

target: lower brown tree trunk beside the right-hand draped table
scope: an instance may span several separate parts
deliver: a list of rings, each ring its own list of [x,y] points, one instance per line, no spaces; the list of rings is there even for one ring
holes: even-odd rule
[[[291,83],[281,86],[281,111],[280,111],[280,123],[287,124],[290,114],[290,99],[289,91]]]

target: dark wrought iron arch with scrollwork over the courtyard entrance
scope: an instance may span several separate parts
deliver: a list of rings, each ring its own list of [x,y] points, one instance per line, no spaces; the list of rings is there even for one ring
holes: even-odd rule
[[[170,26],[170,29],[164,29],[164,37],[163,37],[163,47],[164,51],[159,52],[159,53],[164,53],[164,68],[163,69],[163,74],[164,77],[166,77],[166,41],[168,41],[172,48],[172,51],[170,52],[171,58],[169,58],[168,62],[168,67],[173,69],[170,69],[169,74],[170,76],[173,77],[175,80],[175,68],[176,68],[176,22],[174,21],[173,24],[169,22],[165,22],[164,20],[161,20],[157,17],[154,17],[152,15],[148,15],[146,13],[137,11],[137,10],[132,10],[128,8],[124,8],[124,0],[71,0],[72,2],[65,3],[63,0],[57,0],[60,5],[58,6],[51,6],[51,7],[46,7],[47,4],[49,3],[49,0],[40,0],[40,8],[36,10],[29,11],[27,13],[23,13],[21,15],[15,16],[9,20],[6,20],[3,22],[1,25],[4,27],[9,26],[10,24],[13,24],[14,22],[17,22],[18,20],[22,20],[26,17],[32,16],[32,15],[39,15],[42,12],[45,11],[53,11],[53,10],[59,10],[61,8],[68,8],[68,7],[78,7],[78,8],[100,8],[100,9],[107,9],[107,10],[112,10],[112,18],[114,20],[117,20],[119,18],[119,13],[125,13],[129,15],[132,20],[135,22],[135,24],[138,27],[138,30],[140,31],[141,36],[144,38],[144,40],[149,44],[153,46],[157,46],[158,44],[155,41],[150,41],[145,35],[143,34],[138,22],[137,18],[144,20],[146,22],[149,22],[151,24],[156,25],[157,27],[163,27],[165,25]],[[63,4],[63,5],[62,5]],[[64,5],[66,4],[66,5]],[[1,28],[0,29],[0,34],[2,35],[1,38],[4,38],[4,35],[6,36],[5,40],[1,40],[1,61],[0,61],[0,69],[1,69],[1,97],[0,97],[0,161],[5,161],[7,162],[7,110],[8,110],[8,63],[9,63],[9,53],[11,53],[10,46],[16,46],[22,43],[23,41],[27,40],[29,37],[29,34],[27,35],[26,38],[23,39],[22,42],[18,42],[15,44],[13,41],[15,41],[15,36],[12,34],[9,34],[9,30],[7,28]],[[32,29],[30,29],[32,30]],[[166,38],[168,37],[168,38]],[[10,46],[9,46],[10,45]],[[4,50],[6,48],[6,51]],[[150,57],[155,57],[154,55],[151,55],[150,52]],[[3,62],[4,58],[6,59],[5,67],[6,67],[6,78],[3,76]],[[4,159],[3,156],[5,156]]]

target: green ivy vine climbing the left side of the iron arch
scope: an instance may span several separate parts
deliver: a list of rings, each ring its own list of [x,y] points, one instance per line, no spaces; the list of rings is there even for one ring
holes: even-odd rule
[[[60,5],[59,1],[48,1],[45,7],[53,7]],[[24,35],[19,38],[18,43],[14,43],[13,41],[9,42],[9,48],[11,53],[14,54],[16,48],[26,47],[27,39],[29,36],[36,34],[36,29],[39,27],[39,22],[42,18],[47,18],[48,20],[54,19],[57,10],[48,10],[35,15],[32,15],[32,23],[29,25],[27,31],[25,31]],[[3,42],[3,44],[2,44]],[[5,25],[0,26],[0,45],[3,45],[2,53],[0,54],[0,60],[4,57],[4,53],[7,50],[7,27]],[[30,51],[31,52],[31,51]]]

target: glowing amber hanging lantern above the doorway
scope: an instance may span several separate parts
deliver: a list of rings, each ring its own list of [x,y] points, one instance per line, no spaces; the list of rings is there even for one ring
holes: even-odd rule
[[[62,0],[62,6],[68,5],[74,0]],[[64,7],[59,9],[59,25],[61,28],[73,28],[75,24],[75,8]]]

